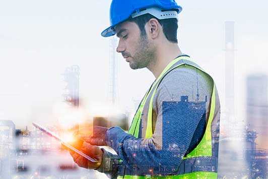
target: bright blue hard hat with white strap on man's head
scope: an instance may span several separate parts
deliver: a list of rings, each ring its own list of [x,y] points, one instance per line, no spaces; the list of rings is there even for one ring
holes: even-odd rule
[[[175,0],[112,0],[111,26],[105,29],[101,35],[103,37],[115,35],[114,27],[130,16],[134,18],[149,13],[158,19],[168,19],[176,18],[181,10],[182,8],[177,5]]]

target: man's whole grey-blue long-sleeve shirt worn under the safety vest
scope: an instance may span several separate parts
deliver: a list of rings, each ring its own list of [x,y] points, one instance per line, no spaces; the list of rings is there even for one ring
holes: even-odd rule
[[[170,72],[154,96],[153,136],[145,139],[147,117],[142,117],[138,139],[119,127],[110,128],[107,142],[118,155],[103,150],[103,162],[98,170],[109,173],[111,159],[120,158],[125,168],[119,168],[119,174],[150,174],[148,168],[162,175],[172,172],[205,133],[212,89],[211,77],[194,67],[183,66]],[[216,106],[217,110],[220,106]],[[165,166],[165,173],[160,165]]]

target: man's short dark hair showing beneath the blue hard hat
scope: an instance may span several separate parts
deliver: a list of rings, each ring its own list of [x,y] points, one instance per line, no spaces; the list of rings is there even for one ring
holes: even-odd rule
[[[158,22],[161,24],[163,28],[163,32],[166,38],[170,42],[178,43],[178,40],[177,40],[178,20],[176,18],[159,20],[158,18],[152,16],[151,14],[145,14],[142,16],[138,16],[136,18],[130,17],[128,21],[135,22],[141,30],[141,35],[146,36],[145,24],[152,18],[155,18],[158,20]]]

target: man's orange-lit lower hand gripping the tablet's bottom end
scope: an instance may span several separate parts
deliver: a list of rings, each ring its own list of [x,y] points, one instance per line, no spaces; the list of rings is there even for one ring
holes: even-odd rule
[[[103,152],[98,146],[90,145],[89,143],[84,142],[79,150],[97,160],[97,162],[91,162],[78,153],[70,150],[70,154],[79,166],[88,169],[96,169],[101,165]]]

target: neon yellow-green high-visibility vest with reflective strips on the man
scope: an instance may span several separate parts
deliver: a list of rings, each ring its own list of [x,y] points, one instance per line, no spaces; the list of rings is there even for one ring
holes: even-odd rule
[[[133,117],[133,121],[131,123],[131,126],[129,128],[128,134],[131,134],[135,136],[136,138],[139,137],[139,131],[140,131],[140,123],[141,123],[141,117],[142,113],[144,112],[144,105],[147,100],[150,100],[149,108],[148,108],[148,120],[147,120],[147,128],[146,128],[146,136],[145,138],[151,138],[153,136],[153,125],[152,125],[152,119],[153,119],[153,98],[157,91],[157,88],[159,84],[161,83],[162,79],[172,70],[176,68],[183,68],[184,66],[192,66],[200,71],[206,73],[203,69],[201,69],[199,66],[197,66],[195,63],[190,61],[189,56],[183,55],[179,56],[176,59],[174,59],[168,66],[163,70],[163,72],[160,74],[160,76],[155,80],[149,91],[146,93],[144,98],[142,99],[140,106]],[[207,73],[206,73],[207,74]],[[211,78],[212,79],[212,78]],[[213,91],[212,96],[210,98],[210,110],[208,114],[208,121],[206,125],[206,131],[202,138],[202,140],[198,143],[198,145],[186,156],[183,157],[181,164],[178,166],[178,170],[175,171],[175,174],[173,175],[166,175],[166,176],[137,176],[137,175],[124,175],[118,176],[117,178],[217,178],[217,168],[218,168],[218,147],[214,147],[212,144],[213,135],[212,135],[212,124],[213,121],[216,121],[216,102],[219,102],[219,97],[217,94],[217,90],[215,87],[215,83],[213,81]],[[148,97],[151,96],[149,99]],[[215,119],[215,120],[214,120]],[[219,121],[217,123],[219,125]],[[219,126],[218,126],[219,127]],[[219,132],[219,131],[218,131]],[[217,136],[217,135],[216,135]],[[213,154],[214,153],[214,154]],[[217,153],[217,156],[215,156],[215,153]],[[194,166],[198,163],[199,167]],[[200,163],[202,164],[202,167],[200,167]],[[177,172],[177,173],[176,173]]]

